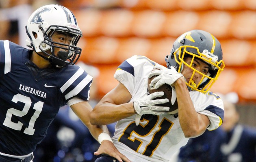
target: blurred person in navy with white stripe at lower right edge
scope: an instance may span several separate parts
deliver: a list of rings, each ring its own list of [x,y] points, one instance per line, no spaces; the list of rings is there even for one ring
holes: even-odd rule
[[[224,121],[221,129],[226,132],[220,151],[226,162],[256,162],[256,127],[239,123],[236,104],[224,99]]]

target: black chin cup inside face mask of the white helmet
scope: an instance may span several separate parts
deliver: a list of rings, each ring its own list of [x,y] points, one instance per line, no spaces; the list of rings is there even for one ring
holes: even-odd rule
[[[65,66],[67,66],[67,63],[65,63],[65,60],[68,58],[69,52],[65,52],[65,51],[59,51],[57,53],[57,56],[61,59],[57,59],[57,58],[50,58],[50,63],[53,67],[57,67],[57,68],[63,68]]]

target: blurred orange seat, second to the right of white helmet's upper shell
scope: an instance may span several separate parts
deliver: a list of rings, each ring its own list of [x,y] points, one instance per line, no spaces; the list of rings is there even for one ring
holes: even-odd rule
[[[131,26],[134,15],[126,9],[112,9],[102,11],[104,18],[100,22],[100,32],[109,37],[131,36]]]

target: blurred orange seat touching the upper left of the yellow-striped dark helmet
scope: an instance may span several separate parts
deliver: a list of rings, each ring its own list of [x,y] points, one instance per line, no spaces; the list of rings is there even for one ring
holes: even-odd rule
[[[167,12],[166,15],[162,33],[168,37],[178,37],[184,32],[195,29],[199,21],[199,15],[192,11],[173,11]]]

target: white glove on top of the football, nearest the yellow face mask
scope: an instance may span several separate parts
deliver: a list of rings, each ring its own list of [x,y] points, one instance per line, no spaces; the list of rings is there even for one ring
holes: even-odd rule
[[[151,78],[152,76],[157,76],[151,81],[150,89],[158,89],[163,84],[169,84],[172,88],[171,104],[173,105],[177,98],[177,95],[176,95],[175,88],[172,86],[172,84],[178,78],[180,77],[184,78],[184,76],[182,75],[182,73],[178,73],[174,67],[171,67],[171,69],[168,69],[164,66],[155,66],[154,69],[160,69],[160,70],[154,70],[150,72],[148,78]]]

